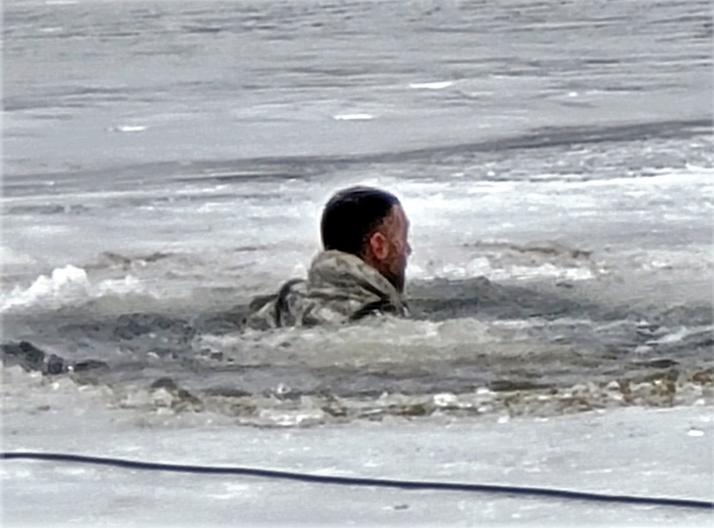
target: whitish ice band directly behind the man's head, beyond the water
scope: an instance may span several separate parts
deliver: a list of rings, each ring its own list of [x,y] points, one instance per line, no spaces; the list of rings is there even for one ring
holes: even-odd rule
[[[76,175],[51,185],[8,181],[2,304],[61,302],[74,287],[93,297],[114,288],[164,298],[223,287],[244,300],[305,272],[318,250],[321,206],[347,182],[402,197],[413,219],[414,279],[593,279],[623,264],[703,274],[714,189],[711,139],[702,131],[690,126],[680,139],[643,141],[630,129],[624,142],[605,131],[604,144],[585,134],[575,137],[581,144],[441,149],[399,162],[343,161],[338,169],[310,159],[263,163],[247,175],[243,164],[238,174],[197,166],[156,183],[124,175],[101,189],[81,189]],[[668,151],[683,159],[668,159]],[[274,175],[282,165],[293,174]],[[84,277],[72,270],[30,288],[67,265],[96,277],[98,291],[84,292]],[[102,287],[102,279],[117,282]]]

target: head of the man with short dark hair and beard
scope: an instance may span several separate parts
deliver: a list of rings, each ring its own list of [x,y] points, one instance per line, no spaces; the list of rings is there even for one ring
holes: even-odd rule
[[[350,187],[338,191],[322,214],[321,233],[325,249],[359,256],[402,292],[409,221],[393,194],[373,187]]]

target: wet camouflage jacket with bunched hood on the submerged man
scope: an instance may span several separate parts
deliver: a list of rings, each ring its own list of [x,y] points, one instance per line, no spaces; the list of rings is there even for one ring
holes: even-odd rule
[[[357,321],[369,314],[406,316],[401,294],[358,256],[324,251],[313,260],[307,280],[293,279],[278,294],[251,303],[248,327],[268,329]]]

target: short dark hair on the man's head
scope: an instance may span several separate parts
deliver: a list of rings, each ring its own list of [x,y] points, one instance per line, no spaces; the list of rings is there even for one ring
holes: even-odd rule
[[[320,229],[324,248],[360,254],[365,239],[395,205],[399,205],[396,196],[373,187],[338,191],[322,211]]]

